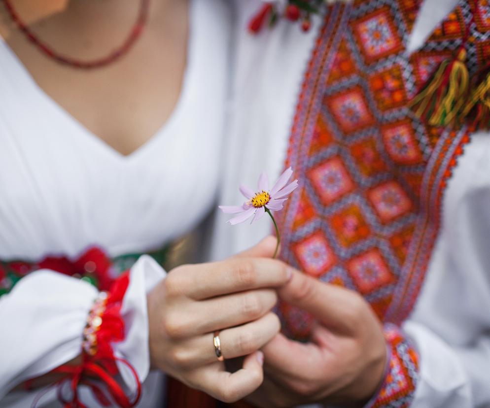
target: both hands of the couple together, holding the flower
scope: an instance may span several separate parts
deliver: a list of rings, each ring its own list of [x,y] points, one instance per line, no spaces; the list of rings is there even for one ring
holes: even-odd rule
[[[270,259],[274,248],[266,238],[225,261],[170,272],[148,294],[152,366],[224,402],[366,402],[385,368],[381,324],[355,292]],[[271,312],[278,295],[315,316],[310,343],[279,334]],[[216,330],[225,359],[246,356],[242,369],[230,373],[217,361]]]

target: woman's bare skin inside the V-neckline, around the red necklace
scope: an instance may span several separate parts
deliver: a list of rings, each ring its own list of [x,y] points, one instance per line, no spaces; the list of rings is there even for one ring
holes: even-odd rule
[[[47,58],[19,30],[12,31],[7,42],[43,92],[93,135],[129,155],[171,117],[181,93],[190,47],[188,20],[195,16],[187,1],[179,3],[169,6],[167,13],[152,7],[131,47],[97,68],[73,68]],[[102,17],[81,24],[87,19],[83,10],[80,15],[71,10],[68,7],[32,28],[55,55],[91,62],[118,49],[118,38],[124,40],[128,24],[119,21],[119,14],[129,11],[115,14],[111,24]],[[193,20],[193,26],[201,23]]]

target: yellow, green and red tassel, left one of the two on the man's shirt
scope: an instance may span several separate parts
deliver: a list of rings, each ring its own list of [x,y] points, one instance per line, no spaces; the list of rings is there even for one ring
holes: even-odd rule
[[[461,126],[468,100],[469,73],[466,50],[460,48],[453,60],[443,61],[432,79],[409,102],[415,115],[430,126]]]

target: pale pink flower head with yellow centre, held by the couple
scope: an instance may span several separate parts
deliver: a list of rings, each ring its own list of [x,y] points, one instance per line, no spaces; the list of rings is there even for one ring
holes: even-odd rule
[[[271,215],[271,211],[282,209],[283,203],[287,200],[286,196],[291,194],[298,187],[298,180],[287,184],[293,174],[291,168],[286,169],[279,177],[276,184],[269,190],[269,180],[265,173],[259,177],[258,192],[254,193],[248,187],[240,186],[240,192],[247,201],[243,205],[220,205],[219,208],[226,214],[238,214],[228,222],[232,225],[245,222],[253,216],[252,221],[259,220],[266,212]]]

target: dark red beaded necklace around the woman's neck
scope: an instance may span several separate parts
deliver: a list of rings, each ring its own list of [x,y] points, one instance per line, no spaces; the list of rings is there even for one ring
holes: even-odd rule
[[[54,51],[49,45],[41,41],[30,29],[27,27],[27,25],[20,19],[18,13],[15,11],[13,8],[12,4],[10,3],[10,0],[0,0],[3,1],[5,4],[5,7],[10,14],[10,17],[12,20],[15,22],[17,27],[26,35],[26,37],[40,50],[42,53],[44,53],[46,56],[49,58],[52,58],[56,62],[64,65],[68,65],[73,68],[83,68],[83,69],[91,69],[91,68],[99,68],[103,67],[105,65],[108,65],[120,57],[122,57],[124,54],[126,54],[130,48],[133,46],[135,41],[138,39],[140,36],[144,24],[146,22],[146,17],[148,15],[148,7],[150,0],[141,0],[141,5],[140,5],[140,13],[138,15],[138,19],[136,20],[135,25],[133,26],[133,29],[131,30],[131,33],[128,35],[126,40],[123,42],[123,44],[119,47],[116,48],[115,50],[111,51],[107,56],[102,57],[102,58],[97,58],[91,61],[80,61],[75,58],[68,57],[66,55],[62,55]]]

